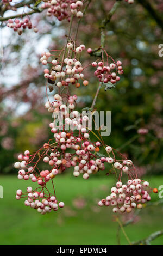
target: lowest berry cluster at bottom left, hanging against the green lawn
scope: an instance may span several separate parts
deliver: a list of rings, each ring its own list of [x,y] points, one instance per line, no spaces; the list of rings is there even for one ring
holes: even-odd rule
[[[59,208],[64,207],[64,202],[58,202],[56,197],[54,197],[48,190],[45,193],[45,188],[37,188],[33,190],[32,187],[27,187],[27,192],[23,193],[21,190],[16,191],[16,199],[27,198],[24,201],[26,206],[40,212],[40,214],[46,214],[47,212],[57,211]]]

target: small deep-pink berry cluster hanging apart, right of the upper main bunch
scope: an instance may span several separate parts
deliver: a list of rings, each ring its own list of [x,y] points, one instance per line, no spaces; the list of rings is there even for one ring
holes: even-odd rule
[[[98,77],[99,82],[111,82],[112,84],[115,84],[117,81],[120,81],[120,77],[117,76],[117,73],[119,75],[123,74],[123,69],[121,65],[122,62],[120,62],[120,60],[118,60],[116,64],[111,63],[110,65],[108,64],[108,61],[106,65],[103,61],[98,63],[92,62],[92,66],[97,66],[97,69],[94,74]],[[114,69],[116,69],[116,72],[112,72]]]

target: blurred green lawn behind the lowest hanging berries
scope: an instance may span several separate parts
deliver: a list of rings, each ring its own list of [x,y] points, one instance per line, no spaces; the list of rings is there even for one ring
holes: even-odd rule
[[[15,199],[16,190],[21,188],[26,191],[27,186],[31,186],[30,181],[20,181],[16,176],[0,176],[0,185],[4,189],[4,198],[0,199],[0,244],[116,245],[118,223],[114,221],[114,215],[108,208],[96,208],[98,199],[107,196],[106,188],[110,188],[113,179],[105,176],[83,180],[60,175],[55,180],[55,188],[57,198],[65,202],[65,208],[41,215],[27,208],[23,199]],[[153,187],[163,184],[162,176],[150,177],[148,180]],[[72,201],[81,196],[86,198],[87,205],[83,209],[76,209]],[[158,194],[152,194],[152,200],[158,200]],[[163,229],[162,212],[162,206],[143,209],[139,222],[124,228],[130,241],[143,239]],[[120,235],[121,244],[127,244],[122,231]],[[163,245],[163,237],[152,244]]]

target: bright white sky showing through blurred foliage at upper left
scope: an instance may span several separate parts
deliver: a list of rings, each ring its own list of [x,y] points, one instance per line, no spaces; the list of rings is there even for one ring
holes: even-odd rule
[[[20,0],[16,0],[13,1],[11,3],[11,5],[14,5],[14,3],[19,3],[21,2]],[[9,17],[12,15],[16,15],[18,13],[23,13],[23,12],[28,12],[29,10],[31,10],[28,7],[24,8],[18,8],[17,11],[13,11],[12,10],[8,10],[5,12],[4,17]],[[36,15],[36,14],[35,14]],[[30,18],[32,19],[32,21],[34,21],[34,15],[32,15]],[[19,84],[21,82],[21,72],[22,72],[22,68],[25,68],[26,65],[28,65],[30,63],[30,65],[33,68],[36,68],[39,62],[39,57],[41,56],[42,52],[48,51],[47,47],[49,47],[49,45],[52,42],[52,38],[55,38],[55,36],[58,38],[58,36],[63,36],[65,35],[65,29],[58,29],[58,25],[59,25],[59,21],[55,18],[52,17],[53,21],[55,21],[55,26],[52,27],[51,29],[51,33],[50,34],[42,34],[39,37],[39,33],[34,33],[33,29],[29,30],[26,29],[23,33],[22,33],[22,37],[21,39],[26,42],[24,44],[24,46],[22,47],[20,53],[20,57],[18,57],[18,53],[17,52],[11,52],[10,56],[8,56],[8,58],[11,58],[11,62],[9,63],[9,65],[3,69],[3,64],[2,63],[2,72],[0,72],[0,82],[2,81],[3,84],[5,84],[5,87],[7,88],[11,88],[12,86],[15,86],[17,84]],[[50,20],[47,17],[47,20]],[[40,27],[43,27],[43,22],[45,22],[44,20],[40,20],[39,25]],[[7,23],[7,21],[6,21]],[[48,24],[48,23],[47,23]],[[8,46],[10,44],[10,41],[12,42],[12,44],[16,44],[16,40],[18,40],[18,35],[16,32],[13,32],[13,30],[11,28],[8,28],[7,26],[1,28],[1,40],[0,40],[0,46],[2,44],[2,47],[5,48],[6,46]],[[54,40],[54,39],[53,39]],[[18,57],[18,64],[14,64],[12,65],[12,59],[16,59]],[[28,61],[27,61],[28,58]],[[3,60],[3,57],[0,57],[0,62],[1,60]],[[4,72],[3,72],[4,71]],[[42,72],[42,79],[43,78],[43,72]],[[30,91],[30,86],[29,86],[29,91]],[[45,88],[42,88],[42,94],[45,94]],[[49,95],[49,98],[51,100],[53,96]],[[46,95],[45,95],[45,102],[47,101]],[[6,98],[4,101],[4,104],[6,106],[13,106],[13,108],[16,107],[16,111],[15,111],[15,115],[23,115],[26,114],[26,112],[29,111],[30,109],[30,103],[27,102],[20,102],[17,104],[17,102],[11,102],[11,100],[9,100],[8,98]]]

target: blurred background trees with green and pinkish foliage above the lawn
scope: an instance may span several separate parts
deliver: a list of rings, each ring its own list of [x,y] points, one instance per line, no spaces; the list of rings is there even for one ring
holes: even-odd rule
[[[93,49],[101,45],[100,27],[114,3],[113,0],[90,2],[80,24],[78,44]],[[1,16],[2,12],[1,6]],[[122,153],[128,152],[141,174],[162,171],[163,57],[158,54],[163,42],[162,12],[161,0],[137,0],[132,5],[121,1],[105,28],[105,48],[112,58],[122,61],[124,75],[116,88],[105,91],[102,87],[96,107],[98,111],[111,111],[111,135],[105,137],[105,143]],[[43,107],[45,79],[39,60],[45,48],[61,48],[65,44],[66,23],[45,14],[43,11],[31,16],[38,33],[28,30],[20,37],[5,22],[1,23],[1,173],[13,172],[12,163],[20,151],[27,148],[35,151],[50,138],[48,123],[52,117]],[[11,10],[4,12],[4,16],[10,15]],[[82,58],[84,65],[97,59],[87,53]],[[89,86],[74,87],[81,109],[91,106],[98,87],[91,69],[86,74]],[[54,91],[48,92],[49,97],[53,94]],[[147,129],[146,134],[140,134],[142,128]]]

